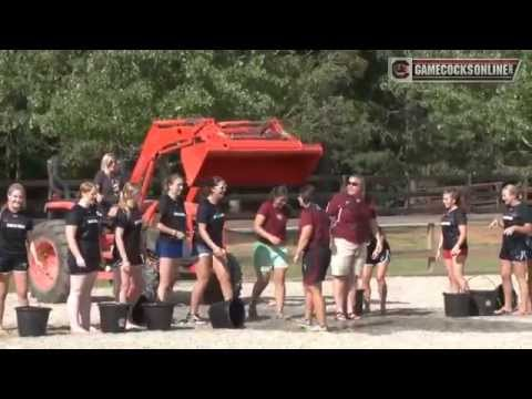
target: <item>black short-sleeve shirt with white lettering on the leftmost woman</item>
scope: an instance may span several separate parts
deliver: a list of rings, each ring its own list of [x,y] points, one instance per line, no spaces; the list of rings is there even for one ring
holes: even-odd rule
[[[27,253],[28,232],[33,229],[33,221],[23,212],[4,209],[0,215],[0,253],[23,256]]]

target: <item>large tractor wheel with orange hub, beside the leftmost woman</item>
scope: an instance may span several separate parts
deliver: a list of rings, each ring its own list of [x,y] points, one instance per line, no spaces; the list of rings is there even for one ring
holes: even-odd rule
[[[66,300],[70,274],[66,265],[69,247],[64,234],[64,221],[40,223],[31,234],[42,268],[29,256],[29,280],[33,297],[44,304],[60,304]]]

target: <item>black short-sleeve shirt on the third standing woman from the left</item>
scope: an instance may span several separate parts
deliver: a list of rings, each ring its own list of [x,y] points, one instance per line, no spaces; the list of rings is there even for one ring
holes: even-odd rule
[[[116,227],[124,229],[124,246],[127,259],[136,264],[141,257],[141,239],[142,239],[142,213],[139,208],[130,211],[127,214],[123,209],[116,213]],[[113,256],[115,260],[121,260],[119,248],[114,245]]]

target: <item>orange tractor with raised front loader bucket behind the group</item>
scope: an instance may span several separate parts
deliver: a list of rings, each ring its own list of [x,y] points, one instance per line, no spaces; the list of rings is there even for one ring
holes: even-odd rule
[[[130,181],[142,187],[144,222],[146,226],[154,226],[157,218],[157,201],[151,198],[152,185],[156,185],[154,177],[162,170],[181,168],[188,186],[185,208],[192,236],[198,185],[203,180],[218,175],[231,187],[300,185],[315,171],[321,156],[320,144],[303,144],[275,119],[267,122],[156,121],[147,132]],[[175,164],[171,165],[172,162]],[[57,181],[60,181],[58,176],[51,178],[51,184],[58,184]],[[63,198],[51,197],[45,204],[49,219],[33,231],[32,239],[43,266],[38,267],[30,256],[29,278],[32,295],[42,303],[64,301],[69,293],[68,245],[62,217],[74,206],[69,196],[64,190]],[[156,237],[153,227],[149,231]],[[112,262],[113,242],[112,234],[102,235],[105,264]],[[188,273],[194,273],[195,262],[194,257],[185,262]],[[112,279],[112,274],[101,272],[99,279]]]

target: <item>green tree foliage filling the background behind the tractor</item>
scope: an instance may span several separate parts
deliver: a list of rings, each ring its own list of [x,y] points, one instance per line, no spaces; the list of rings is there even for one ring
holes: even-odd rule
[[[387,60],[518,57],[513,84],[397,84]],[[73,174],[108,151],[134,160],[156,119],[276,116],[324,143],[324,173],[408,176],[528,171],[529,51],[0,51],[6,178]]]

